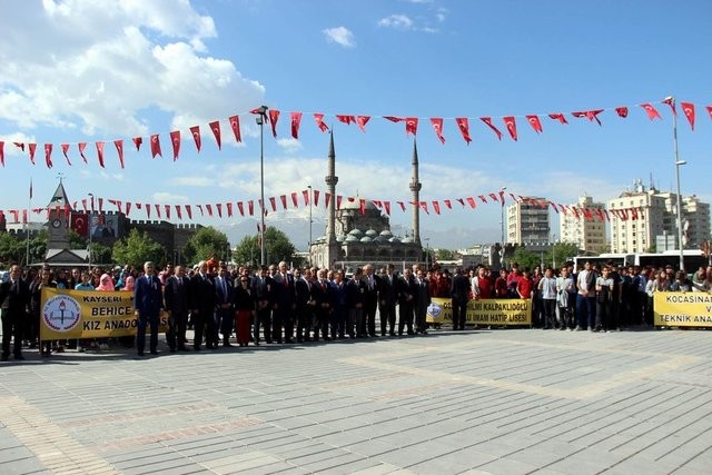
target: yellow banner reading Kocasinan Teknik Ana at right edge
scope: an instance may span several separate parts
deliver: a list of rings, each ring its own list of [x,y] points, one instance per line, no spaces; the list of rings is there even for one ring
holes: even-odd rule
[[[653,294],[655,326],[712,327],[712,295],[702,291]]]

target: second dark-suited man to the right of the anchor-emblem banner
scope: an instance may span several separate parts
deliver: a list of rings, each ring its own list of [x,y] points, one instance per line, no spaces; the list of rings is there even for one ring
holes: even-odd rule
[[[166,280],[164,297],[166,309],[170,313],[168,317],[168,333],[166,339],[170,353],[188,352],[186,346],[186,328],[188,326],[188,311],[190,310],[190,279],[186,277],[186,269],[176,266],[175,274]],[[177,343],[177,346],[176,346]]]

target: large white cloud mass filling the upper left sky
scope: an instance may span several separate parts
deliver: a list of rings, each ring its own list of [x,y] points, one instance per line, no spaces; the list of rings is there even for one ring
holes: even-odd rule
[[[248,110],[265,93],[205,55],[215,24],[188,0],[13,3],[0,17],[0,119],[21,129],[146,135],[156,127],[140,118],[146,109],[186,128]]]

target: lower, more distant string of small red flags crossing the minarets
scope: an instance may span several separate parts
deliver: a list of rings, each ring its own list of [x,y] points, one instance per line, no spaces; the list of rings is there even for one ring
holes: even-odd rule
[[[322,196],[324,197],[323,199]],[[621,220],[635,220],[643,218],[643,208],[640,207],[611,210],[603,208],[585,208],[574,205],[562,205],[543,198],[524,197],[521,195],[514,195],[512,192],[505,194],[502,190],[483,195],[425,201],[385,199],[367,200],[360,197],[344,197],[342,195],[337,195],[335,206],[336,209],[342,209],[345,202],[358,204],[358,209],[360,214],[364,215],[366,214],[367,202],[370,201],[376,206],[376,208],[378,208],[378,210],[380,210],[380,212],[384,212],[388,216],[390,216],[393,211],[397,210],[405,212],[407,209],[414,206],[417,206],[428,215],[431,214],[431,211],[433,211],[435,215],[441,215],[446,210],[456,209],[457,205],[459,205],[461,209],[476,209],[478,206],[486,204],[498,204],[500,206],[505,206],[507,196],[512,202],[523,202],[530,206],[540,207],[542,209],[551,207],[551,209],[556,214],[561,212],[564,216],[572,216],[575,219],[597,219],[601,221],[610,221],[612,218],[617,218]],[[300,205],[301,207],[323,206],[325,209],[327,209],[329,207],[329,204],[332,202],[332,194],[322,192],[320,190],[316,189],[312,189],[312,194],[309,194],[309,190],[303,190],[301,192],[293,191],[288,195],[269,197],[266,199],[267,206],[263,206],[264,204],[261,199],[195,205],[159,205],[95,197],[83,198],[80,201],[73,201],[71,205],[55,205],[32,209],[0,209],[0,221],[6,219],[6,214],[9,214],[12,216],[11,222],[27,224],[30,211],[36,215],[46,214],[47,219],[49,219],[50,212],[52,211],[57,214],[63,211],[66,217],[72,220],[72,228],[73,220],[80,218],[83,219],[83,217],[88,212],[102,214],[107,211],[118,211],[119,214],[123,214],[129,217],[131,212],[134,212],[134,216],[136,216],[137,211],[141,211],[146,215],[146,219],[152,219],[155,217],[158,219],[168,220],[192,220],[194,216],[196,218],[198,217],[198,214],[200,217],[207,216],[212,218],[231,218],[237,217],[238,215],[240,217],[260,216],[261,211],[265,214],[265,216],[267,216],[269,212],[299,209]]]

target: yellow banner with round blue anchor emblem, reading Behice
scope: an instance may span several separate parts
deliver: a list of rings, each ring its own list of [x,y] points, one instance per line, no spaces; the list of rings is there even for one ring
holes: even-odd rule
[[[160,315],[159,331],[168,316]],[[105,338],[136,335],[132,291],[42,288],[40,338]]]

